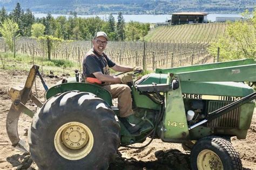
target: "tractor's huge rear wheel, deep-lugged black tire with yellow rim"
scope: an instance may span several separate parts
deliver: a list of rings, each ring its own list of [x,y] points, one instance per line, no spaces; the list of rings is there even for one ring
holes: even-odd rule
[[[80,91],[57,94],[33,117],[31,158],[39,169],[107,169],[120,145],[111,107]]]

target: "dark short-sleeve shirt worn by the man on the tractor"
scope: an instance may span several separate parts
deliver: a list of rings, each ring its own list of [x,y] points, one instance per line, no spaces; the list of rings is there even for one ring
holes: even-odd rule
[[[91,54],[87,55],[83,60],[83,74],[86,77],[93,77],[93,73],[102,72],[104,74],[103,68],[106,66],[113,67],[116,65],[111,61],[106,54],[99,55],[95,51],[90,51]]]

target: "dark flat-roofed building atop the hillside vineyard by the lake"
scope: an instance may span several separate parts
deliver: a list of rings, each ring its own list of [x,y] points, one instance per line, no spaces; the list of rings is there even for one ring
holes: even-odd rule
[[[207,23],[207,13],[203,12],[178,12],[172,14],[172,25]]]

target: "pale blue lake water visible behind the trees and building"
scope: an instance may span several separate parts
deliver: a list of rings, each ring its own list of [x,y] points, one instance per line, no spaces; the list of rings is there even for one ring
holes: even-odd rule
[[[46,13],[33,13],[36,18],[46,17]],[[66,16],[69,17],[70,15],[59,15],[59,14],[52,14],[52,17],[57,18],[58,16]],[[82,18],[89,18],[89,17],[100,17],[102,19],[107,19],[109,15],[77,15],[78,17]],[[118,15],[113,15],[113,17],[117,21]],[[163,23],[167,19],[170,19],[172,15],[123,15],[125,22],[130,22],[131,20],[140,22],[140,23]],[[210,13],[207,15],[207,19],[214,22],[216,17],[242,17],[240,14],[233,14],[233,13]]]

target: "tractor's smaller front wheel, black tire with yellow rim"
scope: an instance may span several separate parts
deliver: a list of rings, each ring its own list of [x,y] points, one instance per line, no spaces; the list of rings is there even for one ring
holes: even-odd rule
[[[242,169],[239,153],[224,138],[209,136],[197,141],[193,146],[191,169]]]

